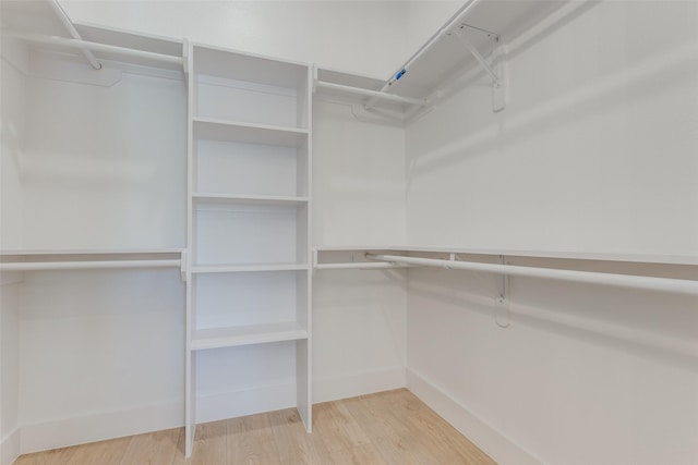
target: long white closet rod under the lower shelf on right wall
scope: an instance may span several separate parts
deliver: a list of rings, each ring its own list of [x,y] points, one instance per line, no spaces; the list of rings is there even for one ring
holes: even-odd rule
[[[619,287],[634,287],[649,291],[698,295],[698,281],[683,279],[561,270],[551,268],[522,267],[516,265],[480,264],[435,258],[405,257],[400,255],[366,254],[365,257],[371,260],[386,261],[390,264],[422,265],[426,267],[447,268],[454,270],[483,271],[489,273],[542,278],[559,281],[574,281],[588,284],[602,284]]]

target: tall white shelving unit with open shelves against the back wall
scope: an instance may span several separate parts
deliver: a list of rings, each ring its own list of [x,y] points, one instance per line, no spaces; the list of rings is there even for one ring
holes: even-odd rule
[[[189,70],[188,456],[197,380],[217,382],[197,362],[225,364],[240,346],[266,379],[294,352],[296,406],[311,428],[311,70],[198,45]],[[245,408],[270,409],[230,411]]]

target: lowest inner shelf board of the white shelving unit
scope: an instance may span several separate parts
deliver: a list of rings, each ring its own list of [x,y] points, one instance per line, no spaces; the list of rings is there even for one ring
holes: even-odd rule
[[[194,331],[191,348],[192,351],[203,351],[304,339],[308,339],[308,330],[296,321],[212,328]]]

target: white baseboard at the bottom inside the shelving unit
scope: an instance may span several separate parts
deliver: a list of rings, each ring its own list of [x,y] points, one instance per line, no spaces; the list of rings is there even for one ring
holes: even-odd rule
[[[217,421],[296,406],[296,382],[198,395],[196,423]]]

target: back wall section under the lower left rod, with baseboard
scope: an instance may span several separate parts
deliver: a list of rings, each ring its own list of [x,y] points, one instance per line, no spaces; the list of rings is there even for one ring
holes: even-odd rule
[[[178,270],[25,273],[22,452],[183,424]]]

